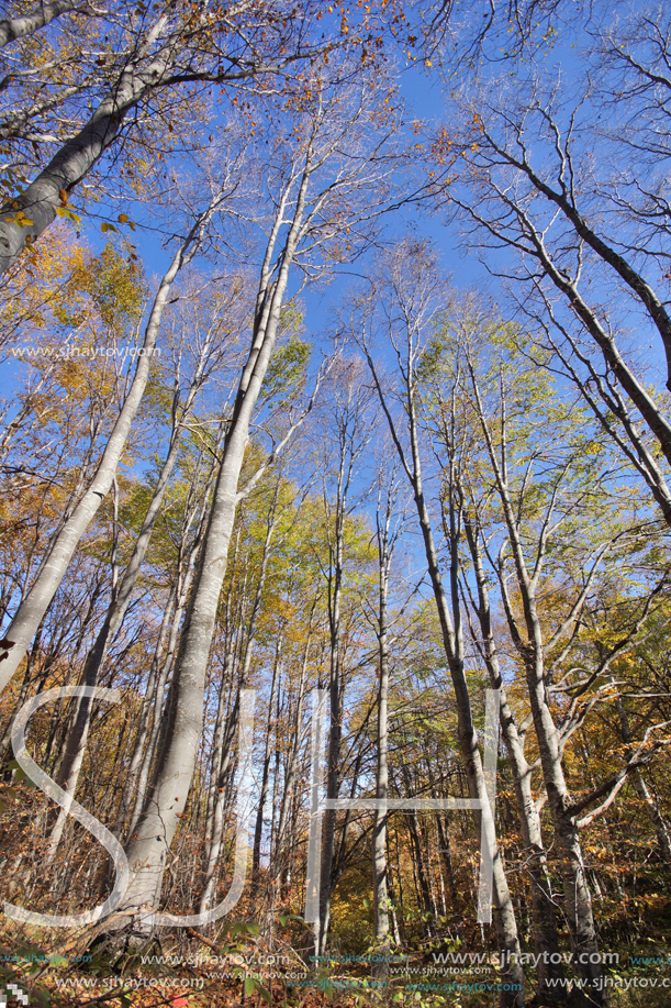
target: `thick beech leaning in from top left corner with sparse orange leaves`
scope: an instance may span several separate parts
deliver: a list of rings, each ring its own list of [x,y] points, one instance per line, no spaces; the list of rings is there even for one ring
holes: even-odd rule
[[[65,9],[48,5],[42,14],[43,24]],[[132,12],[122,4],[120,12],[127,20],[119,56],[102,57],[107,93],[90,118],[57,146],[36,177],[0,211],[0,273],[48,228],[58,211],[67,211],[69,196],[120,139],[132,110],[192,82],[221,86],[259,79],[281,75],[292,64],[313,58],[333,44],[315,45],[310,38],[317,9],[309,3],[299,18],[295,11],[288,16],[281,3],[255,7],[241,0],[224,13],[176,2],[152,19],[141,9]],[[25,35],[29,25],[36,27],[38,21],[37,15],[4,22],[7,41]],[[51,104],[47,101],[35,113],[51,111]],[[81,112],[86,112],[86,103]]]

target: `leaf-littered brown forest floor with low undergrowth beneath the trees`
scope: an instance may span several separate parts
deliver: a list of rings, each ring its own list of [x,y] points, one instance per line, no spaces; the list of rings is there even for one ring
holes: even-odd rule
[[[16,1004],[27,997],[38,1008],[495,1008],[499,1003],[493,965],[440,970],[425,957],[406,956],[403,970],[391,966],[382,982],[371,977],[370,964],[345,963],[344,956],[309,968],[287,943],[269,954],[258,942],[241,941],[232,951],[230,943],[219,948],[198,939],[170,935],[132,955],[112,952],[104,942],[85,942],[79,948],[87,952],[78,953],[70,941],[58,953],[46,951],[51,942],[29,942],[5,927],[0,976]],[[671,956],[650,951],[630,952],[625,965],[606,970],[610,1008],[668,1008]],[[532,1000],[530,973],[527,979],[527,1005],[544,1008]]]

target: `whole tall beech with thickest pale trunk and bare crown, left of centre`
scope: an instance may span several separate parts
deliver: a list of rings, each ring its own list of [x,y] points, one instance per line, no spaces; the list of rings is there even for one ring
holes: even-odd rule
[[[135,874],[125,897],[127,907],[155,907],[159,900],[166,854],[178,817],[183,813],[195,765],[205,671],[235,510],[289,436],[272,450],[268,462],[247,481],[246,488],[238,488],[249,424],[275,346],[289,272],[295,264],[309,276],[312,272],[318,274],[324,269],[321,263],[327,262],[328,254],[333,255],[334,246],[344,243],[350,250],[354,247],[354,237],[347,237],[350,232],[356,234],[359,229],[358,241],[365,242],[371,220],[389,206],[384,191],[377,206],[371,206],[370,190],[389,179],[396,165],[390,142],[393,128],[390,130],[384,122],[381,128],[378,125],[378,92],[368,90],[369,79],[357,80],[349,91],[344,90],[349,69],[347,64],[315,68],[305,81],[294,132],[279,142],[277,162],[270,163],[268,182],[276,210],[259,275],[249,356],[237,385],[181,633],[166,744],[137,839],[128,848]],[[146,921],[146,913],[143,916]],[[156,922],[174,919],[178,921],[169,915],[149,918]]]

